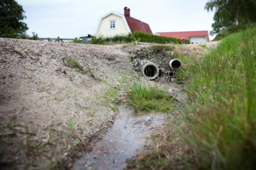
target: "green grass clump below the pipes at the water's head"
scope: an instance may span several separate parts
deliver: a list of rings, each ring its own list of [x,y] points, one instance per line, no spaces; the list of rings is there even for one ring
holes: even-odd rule
[[[134,81],[126,91],[128,105],[136,111],[160,111],[169,112],[174,99],[167,91],[157,86],[142,85],[140,81]]]

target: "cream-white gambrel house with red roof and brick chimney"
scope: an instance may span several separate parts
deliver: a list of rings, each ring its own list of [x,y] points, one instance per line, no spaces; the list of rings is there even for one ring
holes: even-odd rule
[[[96,36],[113,37],[126,35],[135,31],[151,33],[148,23],[144,23],[130,16],[130,9],[125,7],[124,14],[111,11],[99,19]]]

